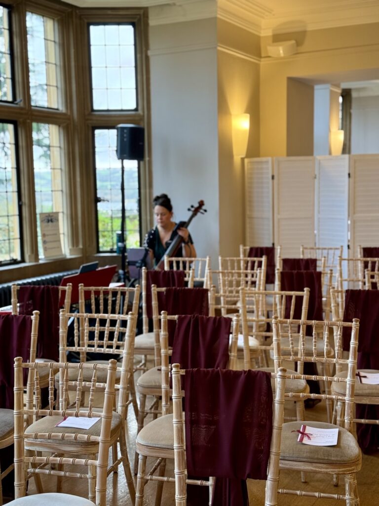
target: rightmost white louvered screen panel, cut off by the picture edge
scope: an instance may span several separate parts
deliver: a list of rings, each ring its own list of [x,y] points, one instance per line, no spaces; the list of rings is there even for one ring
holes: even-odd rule
[[[350,157],[350,257],[379,244],[379,155]]]

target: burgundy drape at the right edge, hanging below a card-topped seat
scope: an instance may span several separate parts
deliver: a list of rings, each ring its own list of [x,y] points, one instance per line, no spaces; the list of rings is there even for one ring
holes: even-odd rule
[[[379,370],[379,290],[346,290],[344,320],[359,318],[358,369]],[[351,330],[344,329],[343,349],[349,350]],[[379,406],[356,405],[357,418],[379,419]],[[362,451],[376,451],[379,426],[357,424],[357,439]]]

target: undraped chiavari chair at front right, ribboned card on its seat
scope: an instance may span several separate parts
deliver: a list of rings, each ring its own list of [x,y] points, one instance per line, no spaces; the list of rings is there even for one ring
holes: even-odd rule
[[[329,399],[334,402],[343,401],[345,403],[344,417],[339,420],[340,425],[323,423],[320,421],[291,421],[283,424],[282,438],[280,446],[280,469],[306,472],[309,476],[314,473],[325,473],[330,475],[343,476],[345,479],[345,494],[328,494],[321,490],[305,491],[305,490],[290,490],[278,489],[278,493],[309,496],[314,498],[333,498],[344,499],[347,506],[354,506],[359,504],[356,473],[361,468],[361,452],[358,443],[353,435],[353,409],[354,409],[354,389],[357,367],[357,347],[358,347],[358,329],[359,320],[354,319],[353,323],[335,322],[335,321],[313,321],[313,320],[286,320],[278,319],[276,316],[273,318],[273,345],[274,345],[274,360],[275,357],[282,357],[280,350],[281,346],[281,326],[286,325],[287,331],[289,330],[288,347],[290,355],[286,356],[286,361],[291,362],[313,362],[313,363],[328,363],[330,366],[336,366],[338,363],[345,363],[348,366],[348,374],[346,377],[336,376],[323,376],[323,375],[307,375],[300,374],[287,374],[287,378],[291,379],[318,379],[325,383],[340,384],[343,383],[346,389],[343,394],[327,395],[316,393],[298,393],[291,394],[289,397],[294,400],[298,399]],[[305,328],[311,326],[313,335],[313,346],[310,353],[307,351],[305,343]],[[296,329],[296,338],[292,335],[292,328]],[[298,329],[300,327],[300,340],[298,340]],[[317,353],[317,327],[322,327],[325,353],[319,356]],[[336,340],[336,355],[329,357],[327,353],[327,340],[329,330],[333,331]],[[346,329],[351,330],[349,358],[344,359],[341,357],[342,350],[342,336],[343,331]],[[280,358],[276,358],[278,365],[280,365]],[[317,429],[338,429],[338,442],[335,446],[311,446],[302,444],[298,441],[299,433],[304,437],[311,437],[310,430],[302,428],[314,427]],[[308,430],[309,432],[305,432]],[[303,432],[302,432],[303,431]],[[308,476],[307,474],[307,476]],[[311,481],[309,479],[308,481]]]

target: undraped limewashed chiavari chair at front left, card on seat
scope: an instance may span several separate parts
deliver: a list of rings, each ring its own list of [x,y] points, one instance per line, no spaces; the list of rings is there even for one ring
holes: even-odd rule
[[[124,416],[113,411],[115,402],[116,361],[108,366],[102,364],[50,362],[49,408],[40,405],[39,369],[41,363],[23,363],[15,359],[15,495],[26,494],[26,484],[32,476],[57,476],[62,478],[84,478],[88,480],[88,498],[105,506],[107,476],[123,465],[131,500],[134,501],[132,480],[126,452]],[[59,369],[60,404],[54,407],[55,369]],[[26,403],[24,406],[23,370],[28,371]],[[70,379],[71,377],[71,379]],[[103,381],[101,381],[101,377]],[[86,378],[86,379],[85,379]],[[75,401],[70,407],[69,389],[75,389]],[[104,391],[102,409],[94,407],[95,393]],[[88,393],[88,407],[81,408],[84,392]],[[121,391],[120,391],[121,396]],[[122,397],[122,396],[121,396]],[[120,402],[120,401],[119,401]],[[122,402],[122,400],[121,400]],[[60,426],[66,417],[76,419],[98,419],[89,429]],[[25,425],[24,420],[27,420]],[[33,421],[35,420],[35,421]],[[119,441],[121,456],[108,468],[109,448]],[[41,454],[43,452],[43,456]],[[46,456],[45,453],[51,455]],[[96,454],[98,457],[96,458]],[[83,458],[86,456],[87,458]],[[87,473],[67,472],[63,465],[80,465],[88,468]],[[58,469],[51,469],[51,466]],[[80,470],[82,471],[82,470]]]

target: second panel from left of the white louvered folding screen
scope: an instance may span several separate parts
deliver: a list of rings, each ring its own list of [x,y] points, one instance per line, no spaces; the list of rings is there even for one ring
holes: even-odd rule
[[[275,158],[274,231],[281,257],[300,257],[300,246],[314,245],[313,156]]]

